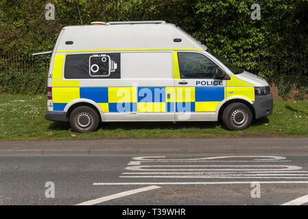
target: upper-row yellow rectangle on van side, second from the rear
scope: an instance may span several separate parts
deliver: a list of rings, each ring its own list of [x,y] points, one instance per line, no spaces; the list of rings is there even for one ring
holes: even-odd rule
[[[137,103],[137,87],[108,88],[109,103]]]

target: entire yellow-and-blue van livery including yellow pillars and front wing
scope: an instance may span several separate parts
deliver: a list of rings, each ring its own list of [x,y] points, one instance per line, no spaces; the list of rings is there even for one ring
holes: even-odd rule
[[[180,79],[178,52],[173,53],[173,77]],[[254,102],[254,86],[230,75],[222,81],[196,81],[196,87],[80,87],[63,80],[64,54],[57,54],[53,69],[54,111],[63,111],[75,99],[90,99],[102,112],[215,112],[224,99],[243,96]]]

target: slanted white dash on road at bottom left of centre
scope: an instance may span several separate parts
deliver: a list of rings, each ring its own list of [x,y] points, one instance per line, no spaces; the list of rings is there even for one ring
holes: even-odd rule
[[[121,198],[123,196],[129,196],[131,194],[136,194],[136,193],[139,193],[139,192],[145,192],[145,191],[149,191],[149,190],[155,190],[155,189],[158,189],[158,188],[161,188],[161,187],[156,186],[156,185],[151,185],[151,186],[147,186],[147,187],[144,187],[144,188],[139,188],[137,190],[129,190],[129,191],[126,191],[126,192],[119,192],[117,194],[112,194],[110,196],[104,196],[102,198],[96,198],[96,199],[93,199],[93,200],[90,200],[90,201],[85,201],[84,203],[80,203],[78,205],[95,205],[95,204],[103,203],[105,201],[109,201],[109,200],[112,200],[112,199],[115,199],[115,198]]]

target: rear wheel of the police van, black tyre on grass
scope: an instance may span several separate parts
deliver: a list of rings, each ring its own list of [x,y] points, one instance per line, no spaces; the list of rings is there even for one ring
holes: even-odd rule
[[[88,106],[76,107],[69,116],[69,124],[75,132],[95,131],[99,125],[99,115]]]

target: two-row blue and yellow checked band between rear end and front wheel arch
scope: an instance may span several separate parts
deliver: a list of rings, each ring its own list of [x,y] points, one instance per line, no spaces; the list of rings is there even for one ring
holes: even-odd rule
[[[54,110],[74,99],[90,99],[103,112],[214,112],[224,87],[54,88]]]

